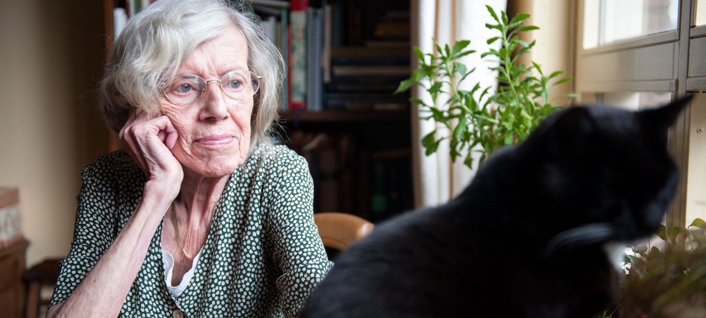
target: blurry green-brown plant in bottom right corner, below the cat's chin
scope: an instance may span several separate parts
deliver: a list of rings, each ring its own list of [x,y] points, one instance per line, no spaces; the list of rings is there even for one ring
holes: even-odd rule
[[[600,317],[706,317],[706,222],[661,226],[660,247],[633,247],[625,255],[618,305]]]

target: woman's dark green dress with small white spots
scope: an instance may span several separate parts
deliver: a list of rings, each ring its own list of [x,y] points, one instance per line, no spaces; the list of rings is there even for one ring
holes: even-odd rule
[[[51,305],[64,302],[126,225],[144,173],[122,151],[81,176],[76,228]],[[296,317],[332,265],[313,223],[306,161],[285,146],[257,147],[220,196],[201,259],[184,293],[164,282],[157,228],[121,317]]]

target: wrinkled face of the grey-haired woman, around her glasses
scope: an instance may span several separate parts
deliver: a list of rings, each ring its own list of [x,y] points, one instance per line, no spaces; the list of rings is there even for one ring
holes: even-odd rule
[[[198,46],[179,66],[177,75],[220,80],[230,71],[249,70],[247,61],[245,37],[236,27],[229,27]],[[253,97],[227,97],[216,81],[207,86],[203,98],[193,104],[175,104],[162,95],[162,109],[179,133],[172,154],[184,169],[201,176],[226,176],[243,164],[248,154]]]

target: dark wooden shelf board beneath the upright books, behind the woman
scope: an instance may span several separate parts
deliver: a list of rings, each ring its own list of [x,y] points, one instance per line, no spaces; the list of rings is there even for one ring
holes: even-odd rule
[[[299,123],[409,121],[409,111],[284,111],[280,120]]]

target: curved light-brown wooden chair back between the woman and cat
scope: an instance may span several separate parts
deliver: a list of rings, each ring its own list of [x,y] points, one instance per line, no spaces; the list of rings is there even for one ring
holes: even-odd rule
[[[323,246],[331,254],[335,251],[344,252],[350,245],[373,231],[374,224],[360,216],[340,212],[320,212],[313,214],[313,221],[318,226]]]

